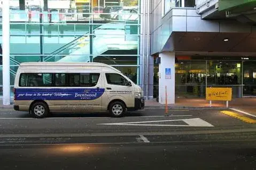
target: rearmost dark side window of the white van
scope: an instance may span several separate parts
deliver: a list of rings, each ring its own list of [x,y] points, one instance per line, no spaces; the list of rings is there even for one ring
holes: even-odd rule
[[[47,87],[52,86],[50,73],[22,73],[19,79],[20,87]]]

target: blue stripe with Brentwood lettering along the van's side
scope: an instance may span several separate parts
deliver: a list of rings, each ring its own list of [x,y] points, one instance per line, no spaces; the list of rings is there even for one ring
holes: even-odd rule
[[[15,100],[95,100],[104,88],[16,88]]]

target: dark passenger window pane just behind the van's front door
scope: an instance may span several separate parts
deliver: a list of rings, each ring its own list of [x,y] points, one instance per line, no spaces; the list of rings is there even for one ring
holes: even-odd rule
[[[96,86],[99,80],[99,73],[80,74],[80,85],[82,87]]]

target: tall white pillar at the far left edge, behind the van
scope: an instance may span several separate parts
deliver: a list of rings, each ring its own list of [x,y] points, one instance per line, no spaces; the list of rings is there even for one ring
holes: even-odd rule
[[[10,5],[2,1],[2,38],[3,38],[3,104],[9,105],[10,96]]]

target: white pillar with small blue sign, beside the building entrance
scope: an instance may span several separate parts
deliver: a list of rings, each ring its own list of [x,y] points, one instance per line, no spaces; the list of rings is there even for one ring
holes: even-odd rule
[[[167,87],[167,103],[175,103],[175,53],[163,52],[159,54],[159,103],[164,104],[166,99],[165,87]]]

